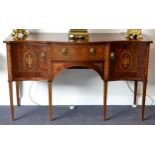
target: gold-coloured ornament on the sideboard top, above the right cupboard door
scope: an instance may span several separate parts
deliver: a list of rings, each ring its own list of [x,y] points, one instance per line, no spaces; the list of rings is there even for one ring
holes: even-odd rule
[[[143,39],[141,29],[128,29],[126,33],[128,39]]]

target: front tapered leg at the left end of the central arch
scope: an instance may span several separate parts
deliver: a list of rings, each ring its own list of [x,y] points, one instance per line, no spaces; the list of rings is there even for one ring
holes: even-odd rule
[[[49,96],[49,120],[52,120],[52,82],[48,82],[48,96]]]

